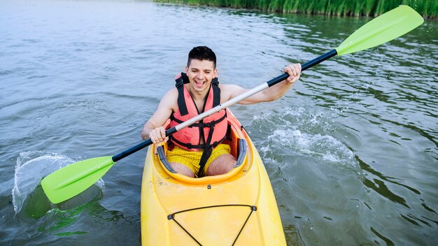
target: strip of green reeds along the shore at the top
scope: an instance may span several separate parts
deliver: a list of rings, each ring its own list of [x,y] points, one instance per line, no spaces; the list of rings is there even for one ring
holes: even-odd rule
[[[155,0],[199,6],[246,8],[283,13],[377,16],[405,4],[427,19],[437,19],[438,0]]]

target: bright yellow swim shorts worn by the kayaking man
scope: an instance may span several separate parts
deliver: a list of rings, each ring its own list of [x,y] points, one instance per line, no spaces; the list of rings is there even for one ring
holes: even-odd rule
[[[173,150],[167,151],[167,160],[169,162],[178,162],[181,163],[188,168],[190,168],[193,173],[195,173],[195,177],[197,177],[197,174],[199,172],[199,161],[201,161],[203,150],[199,150],[199,152],[196,151],[188,151],[184,150],[181,147],[175,146]],[[204,171],[202,171],[202,176],[206,175],[207,170],[209,169],[209,166],[211,162],[213,162],[214,159],[219,157],[222,154],[229,154],[231,152],[231,148],[229,145],[225,145],[221,143],[220,145],[216,146],[213,149],[213,152],[211,152],[211,156],[207,160],[207,163],[204,166]]]

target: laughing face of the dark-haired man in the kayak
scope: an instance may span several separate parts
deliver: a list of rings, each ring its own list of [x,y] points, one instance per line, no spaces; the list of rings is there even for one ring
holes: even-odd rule
[[[213,78],[216,78],[218,70],[214,68],[213,61],[192,59],[190,65],[185,68],[190,80],[190,89],[192,93],[199,94],[210,88]]]

